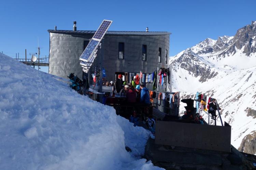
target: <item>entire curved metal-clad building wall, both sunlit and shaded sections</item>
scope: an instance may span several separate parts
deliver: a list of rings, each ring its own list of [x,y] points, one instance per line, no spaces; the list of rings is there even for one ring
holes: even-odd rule
[[[75,73],[82,78],[82,68],[79,57],[84,50],[84,41],[88,41],[93,34],[72,34],[50,32],[49,73],[67,78]],[[106,80],[114,81],[115,72],[152,73],[157,67],[168,67],[169,63],[169,34],[166,35],[115,35],[104,36],[104,58],[102,66],[106,71]],[[118,42],[125,45],[124,59],[118,59]],[[142,45],[147,45],[147,61],[142,61]],[[158,49],[162,48],[161,63],[158,62]],[[98,60],[98,58],[96,58]],[[90,72],[97,69],[97,61]]]

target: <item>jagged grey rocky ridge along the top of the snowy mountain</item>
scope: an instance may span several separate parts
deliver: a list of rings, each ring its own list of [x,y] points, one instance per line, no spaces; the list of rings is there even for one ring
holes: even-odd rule
[[[183,68],[194,77],[200,77],[200,82],[215,77],[218,72],[214,65],[202,62],[202,57],[207,57],[213,61],[231,57],[242,50],[246,56],[256,52],[256,21],[251,25],[240,28],[235,36],[220,36],[218,40],[206,38],[199,44],[188,48],[170,60],[174,71]]]

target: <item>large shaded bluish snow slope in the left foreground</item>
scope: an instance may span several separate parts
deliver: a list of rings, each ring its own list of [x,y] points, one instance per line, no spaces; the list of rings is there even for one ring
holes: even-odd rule
[[[140,159],[147,130],[65,80],[3,54],[0,80],[1,170],[160,169]]]

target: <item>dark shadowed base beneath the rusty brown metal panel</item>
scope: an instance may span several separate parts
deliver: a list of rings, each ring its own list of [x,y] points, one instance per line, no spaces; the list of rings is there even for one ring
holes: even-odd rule
[[[167,170],[229,170],[253,169],[255,155],[251,160],[231,146],[231,153],[192,149],[177,146],[156,145],[154,139],[149,139],[145,148],[145,158],[155,166]]]

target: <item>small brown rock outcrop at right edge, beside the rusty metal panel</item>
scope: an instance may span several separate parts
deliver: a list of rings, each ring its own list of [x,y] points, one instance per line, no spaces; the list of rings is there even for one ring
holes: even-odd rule
[[[248,154],[256,154],[256,131],[251,132],[243,138],[238,150]]]

